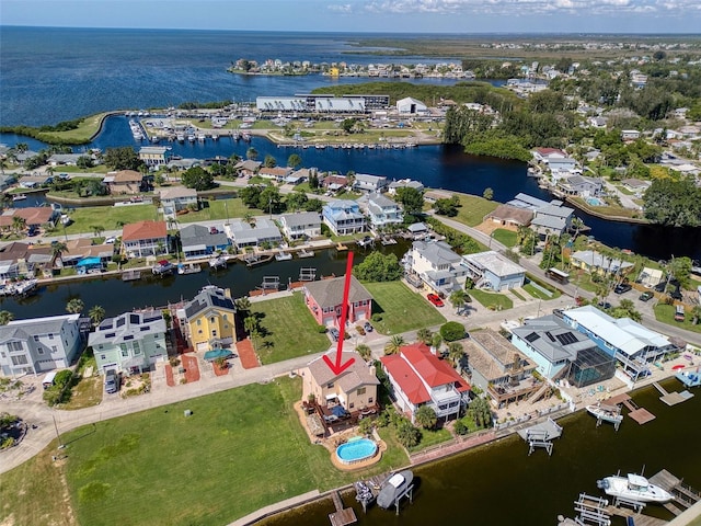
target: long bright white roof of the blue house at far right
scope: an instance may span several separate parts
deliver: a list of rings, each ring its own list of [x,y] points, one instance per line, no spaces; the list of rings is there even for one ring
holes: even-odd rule
[[[664,348],[671,345],[667,336],[630,318],[612,318],[591,305],[566,310],[564,316],[629,356],[647,346]]]

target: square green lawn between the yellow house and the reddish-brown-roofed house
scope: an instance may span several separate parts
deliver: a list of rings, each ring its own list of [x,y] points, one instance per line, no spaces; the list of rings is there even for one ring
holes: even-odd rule
[[[317,330],[319,324],[304,305],[301,293],[252,304],[252,312],[261,316],[265,336],[256,348],[263,364],[318,353],[331,347],[331,340]]]

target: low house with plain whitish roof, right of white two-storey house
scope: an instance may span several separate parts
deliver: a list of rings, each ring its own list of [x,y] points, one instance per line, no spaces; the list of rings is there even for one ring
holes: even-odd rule
[[[478,288],[502,291],[524,286],[526,268],[498,252],[490,250],[467,254],[462,259],[468,276]]]

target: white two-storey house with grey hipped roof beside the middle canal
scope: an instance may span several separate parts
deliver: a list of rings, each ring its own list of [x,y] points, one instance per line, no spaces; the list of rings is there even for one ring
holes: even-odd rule
[[[405,256],[406,270],[436,293],[462,288],[468,266],[445,241],[414,241]]]

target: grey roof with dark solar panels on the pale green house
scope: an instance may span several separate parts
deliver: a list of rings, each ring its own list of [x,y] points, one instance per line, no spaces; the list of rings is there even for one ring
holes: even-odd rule
[[[147,335],[165,334],[165,320],[160,310],[125,312],[103,320],[88,336],[88,344],[117,345],[123,342],[142,340]]]

